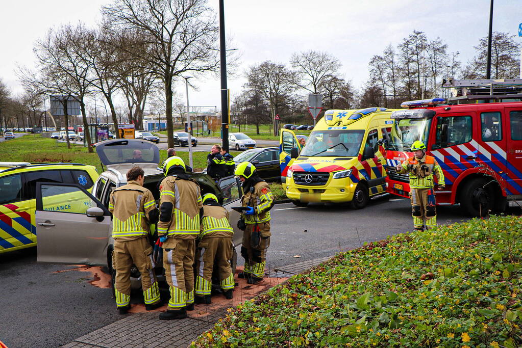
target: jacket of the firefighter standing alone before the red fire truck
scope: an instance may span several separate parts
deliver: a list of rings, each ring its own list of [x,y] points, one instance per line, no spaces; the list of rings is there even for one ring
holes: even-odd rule
[[[399,173],[409,173],[411,189],[432,189],[434,186],[433,175],[437,178],[437,184],[444,186],[444,174],[435,157],[424,155],[421,159],[415,156],[402,162]]]

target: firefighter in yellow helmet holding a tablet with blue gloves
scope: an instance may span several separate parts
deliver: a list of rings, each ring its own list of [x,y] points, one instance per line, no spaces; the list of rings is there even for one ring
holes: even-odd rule
[[[274,206],[274,195],[265,180],[256,174],[256,168],[250,162],[240,163],[234,171],[242,181],[243,197],[241,204],[246,207],[242,213],[244,220],[243,245],[241,256],[245,259],[245,268],[239,278],[246,278],[249,284],[263,280],[265,275],[266,251],[270,245],[270,209]],[[242,227],[242,220],[238,227]]]

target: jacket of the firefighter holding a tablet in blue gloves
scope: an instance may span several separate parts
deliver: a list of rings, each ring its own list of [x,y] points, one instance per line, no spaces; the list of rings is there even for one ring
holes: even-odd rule
[[[246,223],[270,221],[270,209],[274,206],[274,195],[266,181],[259,181],[245,192],[241,199],[242,206],[254,208],[254,215],[243,214]]]

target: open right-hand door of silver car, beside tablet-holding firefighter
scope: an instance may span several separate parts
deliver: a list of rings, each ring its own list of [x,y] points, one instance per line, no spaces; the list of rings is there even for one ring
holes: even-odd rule
[[[230,226],[234,230],[232,241],[234,245],[240,245],[243,241],[243,231],[238,228],[238,220],[240,214],[232,209],[232,207],[241,206],[240,198],[243,195],[241,190],[241,181],[233,176],[223,178],[218,181],[219,188],[223,192],[223,207],[229,213]]]

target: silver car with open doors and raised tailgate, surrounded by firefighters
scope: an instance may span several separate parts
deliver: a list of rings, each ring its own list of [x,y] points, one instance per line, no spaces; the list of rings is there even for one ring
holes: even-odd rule
[[[135,150],[141,152],[136,158]],[[126,172],[139,165],[145,171],[144,186],[159,201],[157,184],[164,178],[158,167],[160,154],[156,145],[138,139],[105,140],[97,144],[96,152],[106,170],[101,173],[88,192],[79,184],[52,182],[37,183],[37,209],[35,213],[38,235],[38,262],[107,266],[112,276],[112,215],[108,210],[111,192],[127,183]],[[234,229],[232,241],[232,269],[236,265],[235,246],[240,245],[243,231],[237,228],[239,213],[231,207],[240,206],[242,196],[239,179],[230,176],[218,184],[208,175],[189,172],[197,180],[201,195],[216,194],[229,211],[230,225]],[[62,206],[66,206],[62,209]],[[160,265],[161,266],[161,265]],[[161,269],[157,272],[162,274]],[[140,274],[131,270],[133,288],[139,289]],[[113,278],[114,283],[114,278]]]

